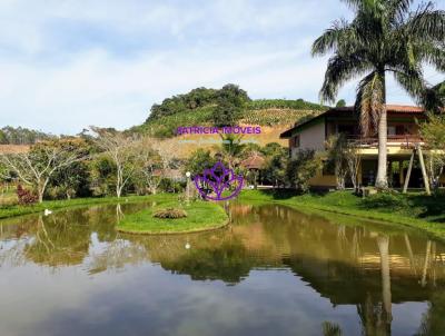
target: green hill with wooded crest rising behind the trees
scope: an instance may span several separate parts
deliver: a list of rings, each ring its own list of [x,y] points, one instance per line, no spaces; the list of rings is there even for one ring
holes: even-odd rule
[[[134,127],[131,131],[170,138],[180,126],[212,126],[215,111],[222,99],[239,106],[237,123],[269,127],[291,126],[328,108],[303,99],[251,100],[246,91],[234,85],[225,86],[220,90],[198,88],[154,105],[146,122]]]

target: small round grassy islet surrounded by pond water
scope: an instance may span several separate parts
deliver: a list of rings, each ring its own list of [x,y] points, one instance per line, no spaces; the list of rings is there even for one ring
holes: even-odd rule
[[[177,202],[164,201],[142,211],[127,215],[117,226],[117,230],[128,234],[185,234],[224,227],[228,224],[226,211],[209,201],[194,201],[181,208],[187,217],[161,219],[154,214],[164,208],[178,207]]]

